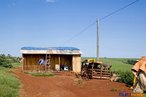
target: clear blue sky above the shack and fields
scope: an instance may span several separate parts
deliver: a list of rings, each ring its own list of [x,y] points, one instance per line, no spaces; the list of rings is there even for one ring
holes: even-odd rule
[[[0,53],[21,47],[77,47],[83,57],[146,56],[146,0],[0,0]],[[104,18],[104,19],[102,19]]]

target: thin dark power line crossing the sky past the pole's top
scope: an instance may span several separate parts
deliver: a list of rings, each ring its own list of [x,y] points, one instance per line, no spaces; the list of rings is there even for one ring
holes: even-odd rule
[[[125,5],[125,6],[123,6],[123,7],[121,7],[121,8],[119,8],[119,9],[117,9],[117,10],[115,10],[115,11],[113,11],[113,12],[107,14],[107,15],[105,15],[104,17],[100,18],[99,21],[102,21],[102,20],[104,20],[104,19],[106,19],[106,18],[108,18],[108,17],[110,17],[110,16],[112,16],[112,15],[114,15],[114,14],[120,12],[121,10],[124,10],[124,9],[128,8],[129,6],[135,4],[135,3],[138,2],[138,1],[140,1],[140,0],[135,0],[135,1],[133,1],[133,2],[131,2],[131,3],[127,4],[127,5]],[[72,36],[69,40],[65,41],[64,44],[65,44],[66,42],[69,42],[69,41],[73,40],[75,37],[79,36],[80,34],[82,34],[83,32],[85,32],[86,30],[88,30],[88,29],[89,29],[90,27],[92,27],[94,24],[96,24],[96,21],[92,22],[90,25],[88,25],[88,26],[85,27],[83,30],[81,30],[79,33],[75,34],[75,35]]]

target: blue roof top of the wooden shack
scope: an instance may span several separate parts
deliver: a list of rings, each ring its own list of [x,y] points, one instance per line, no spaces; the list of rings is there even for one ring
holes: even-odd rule
[[[22,47],[21,50],[80,50],[75,47]]]

